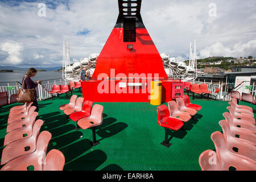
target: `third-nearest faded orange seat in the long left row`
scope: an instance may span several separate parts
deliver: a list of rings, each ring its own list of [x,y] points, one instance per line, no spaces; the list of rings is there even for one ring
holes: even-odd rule
[[[34,125],[28,125],[27,127],[22,127],[7,133],[5,135],[5,142],[3,143],[3,146],[7,146],[7,144],[10,144],[11,142],[19,139],[31,137]]]

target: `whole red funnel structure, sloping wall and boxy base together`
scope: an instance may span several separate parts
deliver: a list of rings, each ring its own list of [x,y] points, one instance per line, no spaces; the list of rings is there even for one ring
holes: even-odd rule
[[[93,102],[150,102],[151,81],[162,81],[162,102],[171,101],[171,84],[162,57],[146,28],[137,28],[135,43],[123,42],[123,28],[114,28],[93,73],[93,80],[82,82],[82,97]],[[127,45],[133,44],[133,49]],[[104,78],[114,78],[108,80]],[[117,80],[117,78],[121,78]],[[124,78],[124,79],[122,79]],[[120,88],[119,82],[142,82],[142,86]],[[104,81],[102,81],[104,80]],[[147,83],[147,84],[146,84]],[[122,85],[122,84],[121,84]]]

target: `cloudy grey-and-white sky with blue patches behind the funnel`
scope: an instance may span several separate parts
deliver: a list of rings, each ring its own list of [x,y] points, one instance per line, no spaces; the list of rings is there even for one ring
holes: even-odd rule
[[[45,9],[44,9],[45,5]],[[255,0],[143,0],[141,15],[159,53],[189,58],[256,57]],[[100,53],[118,17],[117,0],[0,1],[0,65],[62,65]]]

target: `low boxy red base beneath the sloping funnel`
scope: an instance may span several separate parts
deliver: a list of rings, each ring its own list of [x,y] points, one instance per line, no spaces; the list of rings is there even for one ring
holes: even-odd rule
[[[171,85],[179,80],[160,79],[160,81],[162,81],[162,102],[172,101]],[[142,82],[142,86],[126,86],[126,88],[120,88],[119,82],[129,81],[125,79],[82,82],[82,97],[93,102],[150,102],[150,80],[142,79],[139,81]]]

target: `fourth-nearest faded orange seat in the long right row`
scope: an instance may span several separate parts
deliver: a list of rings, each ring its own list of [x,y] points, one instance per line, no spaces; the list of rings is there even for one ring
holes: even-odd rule
[[[233,118],[232,114],[230,114],[228,112],[224,113],[223,116],[225,118],[230,117],[230,119],[226,119],[229,122],[230,126],[242,128],[242,129],[245,129],[245,130],[249,130],[253,133],[256,133],[256,126],[253,123],[251,123],[249,121],[246,121],[246,120],[243,120],[243,119]]]

